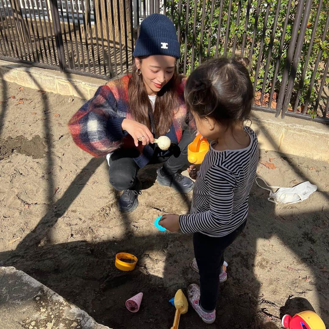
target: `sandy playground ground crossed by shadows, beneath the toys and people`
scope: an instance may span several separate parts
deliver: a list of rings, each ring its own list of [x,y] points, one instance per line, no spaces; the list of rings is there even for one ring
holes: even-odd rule
[[[191,236],[161,233],[153,222],[188,212],[191,193],[160,187],[149,166],[140,171],[138,209],[121,214],[105,159],[80,150],[67,131],[84,101],[19,88],[0,83],[0,265],[25,271],[110,328],[170,328],[168,300],[198,275],[189,266]],[[278,328],[283,314],[305,309],[329,324],[328,163],[261,150],[258,174],[275,186],[309,180],[318,191],[276,206],[255,184],[247,227],[225,255],[215,323],[190,308],[181,329]],[[134,271],[115,268],[122,251],[138,257]],[[125,300],[140,291],[141,309],[130,313]]]

